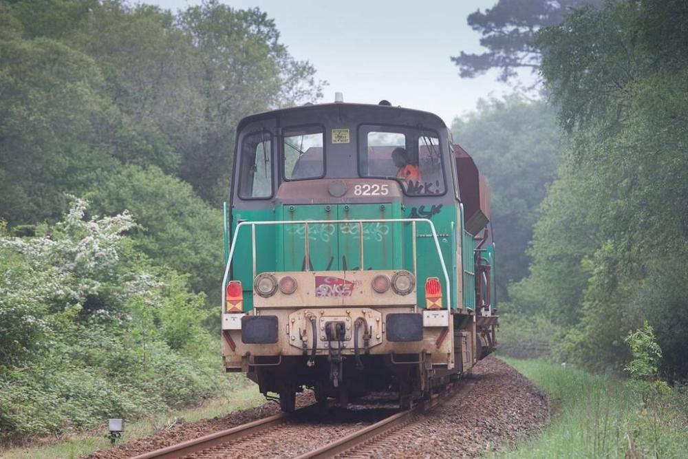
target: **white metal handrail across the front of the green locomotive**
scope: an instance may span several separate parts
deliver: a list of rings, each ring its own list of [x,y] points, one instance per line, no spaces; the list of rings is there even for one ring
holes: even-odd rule
[[[451,285],[449,284],[449,273],[447,273],[447,265],[444,264],[444,257],[442,257],[442,249],[440,249],[440,240],[438,239],[437,236],[437,231],[435,230],[435,224],[431,222],[431,220],[428,220],[427,218],[376,218],[376,219],[365,219],[365,220],[288,220],[288,221],[283,221],[283,220],[274,220],[274,221],[263,221],[263,222],[239,222],[237,224],[237,228],[234,231],[234,236],[232,237],[232,246],[229,248],[229,257],[227,259],[227,265],[224,268],[224,277],[222,277],[222,311],[224,312],[224,308],[226,308],[226,302],[227,302],[227,291],[226,291],[226,286],[227,286],[227,278],[229,277],[229,267],[232,264],[232,258],[234,257],[234,248],[237,244],[237,237],[239,237],[239,229],[241,229],[241,226],[251,226],[253,228],[252,233],[255,234],[255,225],[282,225],[282,224],[301,224],[301,225],[308,225],[308,224],[334,224],[334,223],[358,223],[363,226],[364,223],[381,223],[381,222],[390,222],[390,223],[407,223],[407,222],[420,222],[420,223],[427,223],[430,225],[430,230],[432,231],[432,237],[433,241],[435,242],[435,248],[437,250],[437,255],[440,258],[440,264],[442,265],[442,273],[444,273],[444,281],[447,284],[447,309],[451,308]],[[305,234],[306,238],[306,244],[308,244],[308,232]],[[361,238],[363,238],[363,233],[361,233]],[[415,239],[413,240],[413,244],[416,244]],[[252,250],[255,250],[255,240],[252,241]],[[306,259],[305,263],[308,264],[308,259]],[[415,260],[414,260],[415,263]],[[254,265],[255,265],[255,259],[254,259]],[[363,266],[363,265],[362,265]],[[415,267],[414,267],[415,268]],[[255,270],[255,266],[254,266]],[[416,275],[416,273],[413,273],[413,275]],[[255,277],[255,276],[254,276]]]

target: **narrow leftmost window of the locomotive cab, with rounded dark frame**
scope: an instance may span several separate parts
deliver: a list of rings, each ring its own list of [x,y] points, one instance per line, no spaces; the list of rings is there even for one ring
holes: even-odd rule
[[[241,141],[239,198],[272,196],[272,136],[267,131],[244,136]]]

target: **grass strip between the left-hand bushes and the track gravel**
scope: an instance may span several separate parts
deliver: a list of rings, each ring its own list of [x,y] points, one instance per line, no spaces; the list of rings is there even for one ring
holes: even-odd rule
[[[225,398],[216,398],[213,401],[204,403],[200,407],[171,410],[167,413],[141,418],[131,423],[126,423],[125,420],[125,434],[118,440],[117,444],[120,445],[122,442],[150,436],[156,431],[175,423],[175,420],[191,422],[216,416],[225,416],[239,409],[256,407],[262,403],[265,403],[265,398],[258,392],[257,385],[250,383],[237,387],[236,390],[229,392]],[[94,434],[76,434],[69,438],[69,440],[64,441],[39,440],[39,442],[29,447],[12,447],[8,449],[0,447],[0,458],[80,458],[99,449],[108,449],[110,442],[104,435],[103,431],[98,431],[98,433]]]

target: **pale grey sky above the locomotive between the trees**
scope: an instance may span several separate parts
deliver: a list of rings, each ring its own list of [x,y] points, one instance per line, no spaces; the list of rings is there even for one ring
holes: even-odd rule
[[[449,56],[480,52],[480,34],[466,16],[497,0],[221,0],[233,8],[257,6],[275,19],[281,43],[310,61],[327,80],[321,102],[378,103],[431,111],[447,125],[479,98],[512,92],[496,72],[462,79]],[[177,10],[197,0],[142,0]]]

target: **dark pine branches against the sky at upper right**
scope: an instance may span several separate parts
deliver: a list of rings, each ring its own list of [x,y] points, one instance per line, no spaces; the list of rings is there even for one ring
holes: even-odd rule
[[[498,0],[485,12],[469,14],[468,23],[480,32],[480,44],[488,49],[482,54],[461,52],[451,57],[458,65],[461,78],[473,78],[493,68],[502,71],[500,81],[509,81],[520,69],[537,73],[541,53],[533,44],[535,32],[561,23],[571,8],[583,3],[599,4],[601,0]]]

